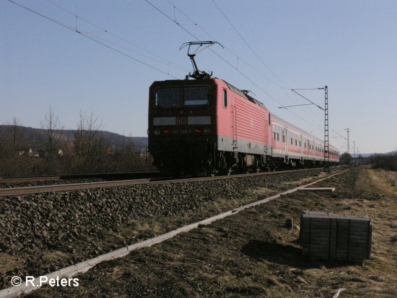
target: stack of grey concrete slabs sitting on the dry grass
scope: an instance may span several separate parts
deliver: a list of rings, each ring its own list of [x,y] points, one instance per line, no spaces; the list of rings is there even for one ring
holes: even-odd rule
[[[371,254],[372,225],[368,218],[304,211],[299,239],[302,255],[313,259],[362,261]]]

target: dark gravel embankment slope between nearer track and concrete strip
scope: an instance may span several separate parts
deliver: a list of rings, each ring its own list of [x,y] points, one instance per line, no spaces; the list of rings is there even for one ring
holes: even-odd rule
[[[207,214],[199,215],[199,211],[206,204],[243,198],[263,187],[285,189],[286,182],[317,176],[318,172],[1,198],[0,289],[14,275],[46,274],[192,223],[195,215],[203,219]],[[129,233],[132,223],[155,217],[162,218],[162,226]]]

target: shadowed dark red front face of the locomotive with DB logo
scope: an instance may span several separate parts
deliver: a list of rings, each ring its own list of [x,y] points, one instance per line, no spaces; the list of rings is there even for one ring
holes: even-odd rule
[[[149,151],[165,172],[206,171],[216,147],[215,79],[156,81],[149,89]],[[209,162],[210,163],[210,162]]]

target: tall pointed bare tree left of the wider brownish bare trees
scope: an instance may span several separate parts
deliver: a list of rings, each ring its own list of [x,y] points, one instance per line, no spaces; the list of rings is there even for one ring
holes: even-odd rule
[[[57,154],[57,149],[63,140],[62,131],[64,126],[55,116],[54,108],[51,107],[48,113],[44,117],[44,121],[40,121],[41,128],[44,130],[44,147],[46,152],[46,157],[48,160],[52,161],[54,156]]]

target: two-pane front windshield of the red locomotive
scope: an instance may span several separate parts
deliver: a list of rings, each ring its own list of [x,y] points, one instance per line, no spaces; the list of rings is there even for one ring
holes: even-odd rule
[[[207,86],[183,88],[157,88],[154,104],[158,107],[203,106],[209,103]]]

